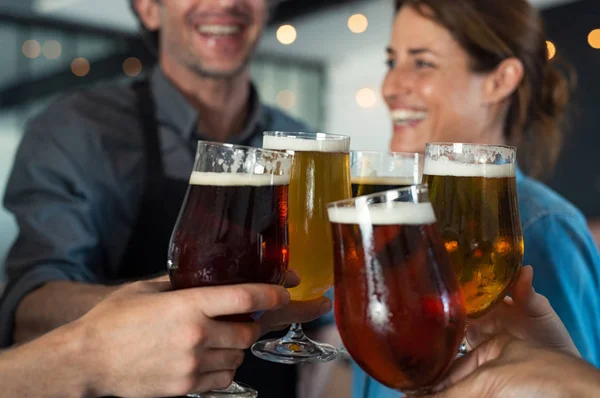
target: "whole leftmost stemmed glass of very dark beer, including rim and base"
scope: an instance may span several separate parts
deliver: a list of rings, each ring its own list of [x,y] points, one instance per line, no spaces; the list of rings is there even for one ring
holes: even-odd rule
[[[168,253],[174,289],[283,284],[288,268],[287,201],[292,156],[198,142],[194,169]],[[252,314],[223,317],[250,322]],[[248,386],[189,397],[256,397]]]

